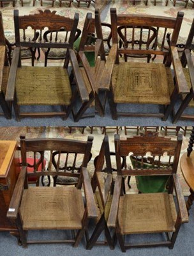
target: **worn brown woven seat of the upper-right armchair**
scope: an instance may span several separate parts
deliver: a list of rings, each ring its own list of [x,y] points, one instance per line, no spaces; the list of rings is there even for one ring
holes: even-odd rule
[[[170,104],[168,84],[174,87],[170,73],[162,63],[126,62],[114,65],[114,102]]]

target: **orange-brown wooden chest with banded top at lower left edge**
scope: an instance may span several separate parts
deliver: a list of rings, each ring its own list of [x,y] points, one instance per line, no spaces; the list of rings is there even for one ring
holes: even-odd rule
[[[16,230],[15,224],[6,218],[6,213],[19,175],[17,141],[0,141],[0,231]]]

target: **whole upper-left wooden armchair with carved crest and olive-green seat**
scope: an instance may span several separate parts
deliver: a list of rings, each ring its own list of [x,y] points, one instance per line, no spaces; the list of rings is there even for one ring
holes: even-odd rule
[[[70,19],[56,15],[56,11],[50,12],[50,10],[39,10],[39,13],[24,16],[19,16],[19,11],[14,10],[14,20],[16,48],[11,63],[6,100],[13,102],[17,120],[26,116],[61,116],[66,119],[70,115],[78,96],[82,102],[89,100],[78,69],[77,59],[73,55],[73,51],[69,51],[75,40],[78,13],[75,13],[74,19]],[[28,27],[32,28],[33,33],[39,31],[38,41],[31,41],[29,38],[30,31],[27,31]],[[52,38],[51,34],[49,42],[45,42],[43,41],[43,29],[45,28],[48,28],[49,31],[60,31],[61,28],[65,28],[66,31],[70,31],[70,38],[68,42],[58,42],[57,36]],[[21,47],[67,49],[64,66],[22,67],[20,61]],[[76,77],[74,90],[71,87],[70,74],[68,74],[70,61]],[[41,111],[42,109],[44,111]]]

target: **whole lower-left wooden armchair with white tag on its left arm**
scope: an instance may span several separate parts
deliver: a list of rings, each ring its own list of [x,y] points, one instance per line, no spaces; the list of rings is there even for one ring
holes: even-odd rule
[[[85,154],[85,161],[89,157],[93,138],[89,137],[85,141],[65,140],[65,139],[34,139],[26,140],[20,138],[22,170],[15,185],[10,202],[7,217],[15,221],[18,227],[19,241],[24,248],[31,243],[71,243],[78,246],[90,219],[98,217],[94,202],[93,190],[86,168],[82,168],[78,180],[77,188],[70,186],[62,187],[34,187],[28,186],[27,177],[42,175],[68,175],[67,172],[52,168],[52,154],[55,151],[75,152]],[[41,172],[36,170],[27,173],[27,154],[32,152],[36,155],[41,152],[42,159],[46,157],[48,168],[42,168]],[[58,155],[60,161],[61,155]],[[57,162],[58,162],[57,161]],[[60,174],[59,174],[60,173]],[[84,195],[86,204],[82,198],[82,184],[84,185]],[[67,237],[64,241],[29,241],[27,240],[27,230],[72,230],[73,237]],[[75,231],[77,230],[77,232]],[[70,238],[70,239],[68,239]]]

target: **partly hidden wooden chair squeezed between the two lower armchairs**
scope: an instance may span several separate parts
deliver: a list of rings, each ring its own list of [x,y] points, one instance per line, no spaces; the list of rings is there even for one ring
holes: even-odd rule
[[[91,184],[96,205],[98,206],[98,222],[93,229],[90,239],[87,240],[86,248],[87,250],[91,250],[95,244],[108,244],[110,249],[114,249],[114,234],[110,234],[110,230],[108,230],[107,227],[114,182],[112,177],[108,136],[106,135],[101,144],[100,153],[96,158],[96,161],[94,161],[94,166],[95,170]],[[107,173],[106,177],[104,171]],[[99,239],[102,232],[105,233],[105,240],[103,241]]]

